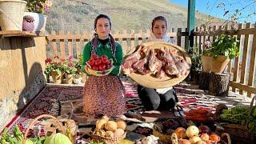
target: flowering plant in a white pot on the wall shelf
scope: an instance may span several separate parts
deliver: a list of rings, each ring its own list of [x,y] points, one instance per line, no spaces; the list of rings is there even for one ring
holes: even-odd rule
[[[49,12],[52,2],[50,0],[26,0],[26,11],[24,16],[31,16],[34,18],[34,32],[44,32],[46,28],[45,15]]]

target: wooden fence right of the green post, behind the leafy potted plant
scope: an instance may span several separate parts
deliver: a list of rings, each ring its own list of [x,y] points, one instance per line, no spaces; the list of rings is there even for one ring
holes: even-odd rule
[[[207,32],[207,30],[209,30]],[[239,94],[247,93],[248,97],[251,94],[256,94],[255,87],[255,55],[256,55],[256,25],[250,23],[239,24],[238,30],[230,30],[230,27],[226,26],[222,29],[221,26],[214,26],[208,29],[196,29],[194,33],[195,43],[199,46],[198,53],[202,53],[205,49],[204,42],[206,40],[214,40],[218,38],[220,34],[229,34],[235,36],[239,40],[239,49],[241,55],[238,58],[234,58],[230,61],[226,71],[232,74],[232,80],[230,86],[232,91],[236,92],[238,89]]]

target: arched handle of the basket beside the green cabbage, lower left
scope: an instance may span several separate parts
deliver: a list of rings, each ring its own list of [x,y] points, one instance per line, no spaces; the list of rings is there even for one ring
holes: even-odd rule
[[[32,126],[34,126],[34,123],[38,121],[38,119],[40,118],[53,118],[57,123],[58,123],[58,126],[60,126],[60,129],[62,131],[64,131],[64,128],[61,124],[61,122],[58,121],[57,118],[55,118],[54,116],[52,115],[49,115],[49,114],[42,114],[42,115],[39,115],[37,118],[34,118],[34,120],[30,123],[30,125],[27,127],[26,129],[26,132],[24,134],[24,140],[22,142],[22,144],[26,144],[26,137],[27,137],[27,134],[29,133],[30,129],[32,128]]]

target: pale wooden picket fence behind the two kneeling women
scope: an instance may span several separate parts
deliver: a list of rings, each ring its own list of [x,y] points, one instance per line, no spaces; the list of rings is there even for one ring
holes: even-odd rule
[[[90,41],[92,35],[93,33],[88,34],[87,32],[70,34],[69,31],[58,31],[58,33],[51,31],[49,36],[47,36],[50,44],[49,50],[52,49],[53,54],[58,54],[62,58],[67,58],[70,55],[76,58],[82,53],[83,46],[85,46],[86,42]],[[123,53],[127,54],[129,50],[138,46],[139,43],[146,42],[146,38],[150,36],[150,30],[139,30],[138,33],[135,33],[134,30],[130,30],[129,32],[127,30],[123,30],[122,32],[115,31],[112,35],[122,45]],[[172,29],[168,32],[168,35],[177,38],[178,46],[182,46],[183,43],[188,42],[188,33],[182,32],[182,28],[178,28],[176,32]]]

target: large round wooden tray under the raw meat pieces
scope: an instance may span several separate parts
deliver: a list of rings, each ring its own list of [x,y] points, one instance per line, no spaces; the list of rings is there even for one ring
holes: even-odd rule
[[[180,46],[177,46],[168,42],[145,42],[145,43],[142,43],[142,45],[146,47],[149,46],[152,49],[159,49],[161,47],[166,47],[169,49],[178,50],[177,54],[182,56],[191,67],[191,59],[189,55]],[[180,78],[177,78],[177,77],[170,78],[166,76],[160,79],[160,78],[154,78],[150,76],[150,74],[142,75],[142,74],[132,73],[129,75],[129,77],[133,79],[134,82],[137,82],[141,86],[157,89],[157,88],[166,88],[166,87],[174,86],[179,82],[182,82],[187,77],[187,75],[182,76]]]

